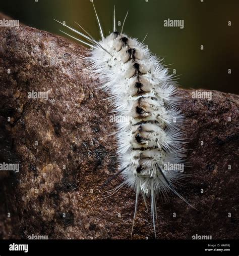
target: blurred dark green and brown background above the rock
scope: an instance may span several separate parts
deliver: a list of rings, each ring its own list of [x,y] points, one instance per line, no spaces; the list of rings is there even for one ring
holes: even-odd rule
[[[100,38],[90,0],[0,1],[0,11],[26,25],[65,36],[53,18],[78,29],[76,21]],[[201,1],[94,0],[94,4],[105,34],[112,31],[113,6],[116,20],[122,23],[129,10],[124,32],[139,40],[148,33],[145,44],[154,54],[164,56],[165,64],[173,63],[168,67],[180,75],[181,87],[238,93],[239,1]],[[168,18],[184,20],[184,29],[164,27]],[[67,28],[64,31],[69,33]]]

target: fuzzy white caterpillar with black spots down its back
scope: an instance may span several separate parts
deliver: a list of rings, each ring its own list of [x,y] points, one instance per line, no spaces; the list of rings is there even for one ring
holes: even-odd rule
[[[121,175],[123,183],[113,189],[112,194],[123,186],[136,193],[133,228],[139,195],[142,195],[146,209],[147,198],[151,201],[151,215],[156,238],[157,210],[159,195],[167,199],[173,192],[191,207],[183,196],[176,192],[176,185],[184,174],[176,168],[165,168],[170,164],[184,164],[185,136],[184,115],[179,109],[182,98],[173,76],[162,65],[162,60],[153,55],[148,47],[136,38],[116,29],[115,7],[113,10],[113,31],[106,37],[93,3],[100,30],[101,40],[96,41],[81,25],[80,32],[65,23],[87,41],[83,41],[62,30],[63,33],[90,47],[88,56],[81,58],[88,64],[87,70],[99,78],[101,90],[109,95],[113,115],[117,118],[117,156],[121,166],[114,177]],[[113,178],[114,178],[113,177]],[[108,179],[106,185],[112,178]],[[112,195],[111,194],[111,195]]]

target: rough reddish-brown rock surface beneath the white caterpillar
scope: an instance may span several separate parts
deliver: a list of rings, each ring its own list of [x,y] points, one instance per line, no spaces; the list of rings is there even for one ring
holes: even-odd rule
[[[20,164],[18,173],[0,171],[0,237],[129,239],[134,192],[101,199],[122,181],[100,189],[117,172],[115,129],[106,95],[80,59],[85,48],[23,25],[3,28],[0,42],[0,158]],[[169,203],[159,198],[157,237],[238,238],[238,96],[207,91],[208,101],[181,92],[190,167],[177,191],[200,211],[173,194]],[[146,237],[154,238],[152,219],[140,199],[133,238]]]

